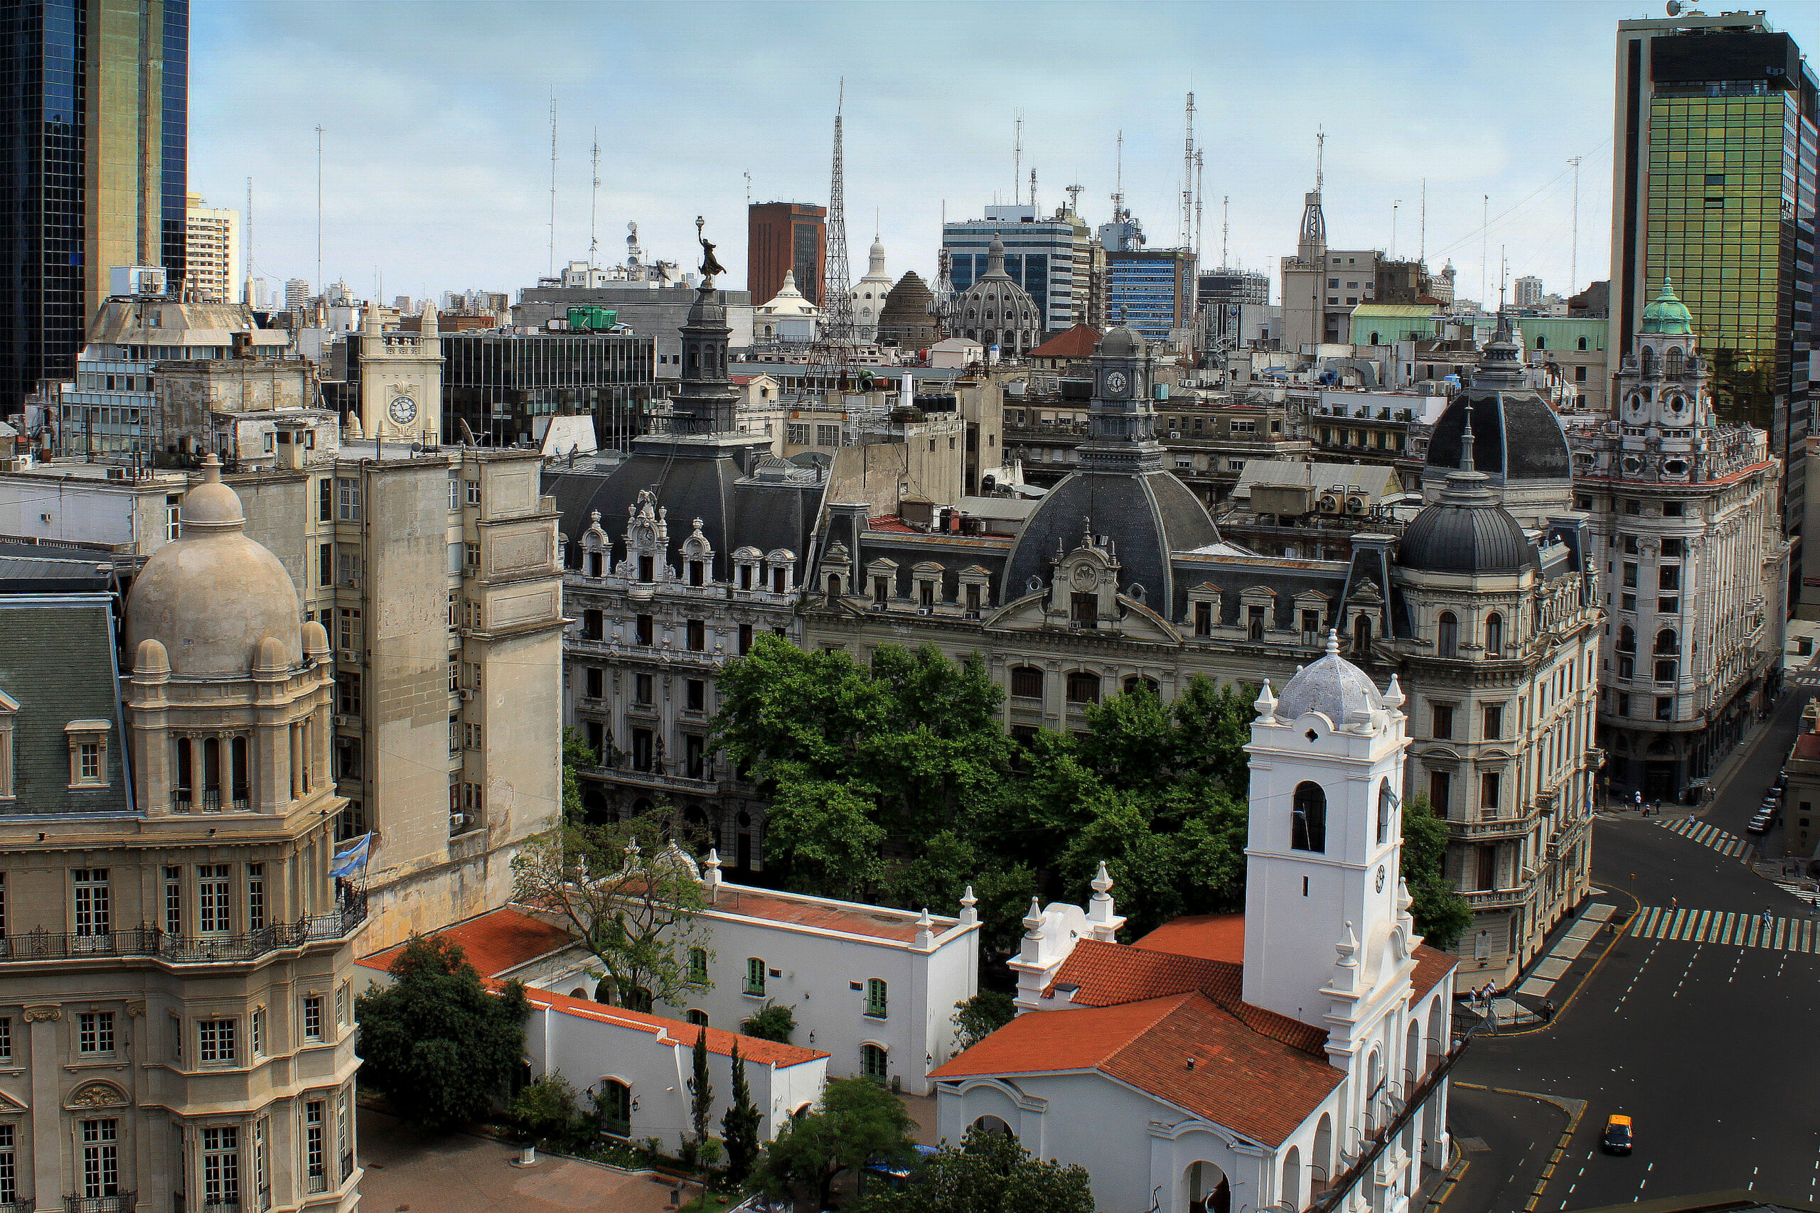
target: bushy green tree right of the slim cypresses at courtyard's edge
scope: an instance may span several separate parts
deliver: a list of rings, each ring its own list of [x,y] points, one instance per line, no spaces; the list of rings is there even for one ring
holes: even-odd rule
[[[834,1078],[821,1089],[815,1111],[797,1117],[764,1149],[752,1173],[766,1197],[814,1195],[817,1209],[841,1171],[857,1171],[874,1158],[905,1162],[915,1157],[910,1113],[901,1098],[872,1078]]]

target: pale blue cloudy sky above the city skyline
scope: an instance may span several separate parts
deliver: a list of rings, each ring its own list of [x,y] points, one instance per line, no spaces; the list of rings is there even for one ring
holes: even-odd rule
[[[1332,247],[1394,238],[1452,260],[1469,298],[1483,282],[1496,300],[1500,266],[1567,295],[1609,269],[1614,36],[1633,16],[1662,7],[195,0],[189,187],[244,209],[251,180],[253,273],[320,286],[320,127],[324,280],[388,302],[515,296],[551,264],[553,98],[555,264],[586,258],[590,231],[599,264],[621,260],[635,222],[650,256],[693,267],[703,216],[723,286],[743,287],[746,175],[753,202],[824,206],[844,80],[852,276],[877,233],[894,278],[934,278],[943,207],[1026,196],[1032,167],[1041,209],[1079,184],[1081,215],[1107,222],[1121,131],[1127,206],[1150,247],[1178,246],[1192,91],[1203,266],[1228,200],[1225,260],[1270,269],[1276,298],[1320,131]],[[1820,47],[1820,5],[1767,16]]]

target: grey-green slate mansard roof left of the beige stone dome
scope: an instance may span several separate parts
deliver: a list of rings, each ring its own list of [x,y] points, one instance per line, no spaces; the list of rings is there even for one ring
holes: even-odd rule
[[[126,813],[120,671],[107,595],[0,595],[0,693],[13,718],[15,798],[0,813]],[[106,784],[69,787],[73,720],[106,720]]]

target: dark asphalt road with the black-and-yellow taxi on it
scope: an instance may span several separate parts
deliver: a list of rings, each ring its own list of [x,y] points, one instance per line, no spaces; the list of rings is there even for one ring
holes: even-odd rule
[[[1760,744],[1705,822],[1751,838],[1744,820],[1780,769],[1809,695],[1791,687],[1771,727],[1747,738]],[[1671,906],[1753,917],[1769,909],[1791,926],[1813,917],[1805,902],[1756,877],[1745,857],[1722,855],[1724,838],[1702,846],[1662,824],[1673,820],[1625,815],[1594,824],[1592,875],[1620,918]],[[1469,1173],[1445,1213],[1520,1213],[1531,1198],[1534,1100],[1518,1109],[1525,1100],[1494,1089],[1585,1100],[1536,1213],[1722,1188],[1820,1200],[1820,951],[1720,942],[1716,927],[1687,931],[1707,942],[1638,938],[1634,929],[1547,1029],[1480,1038],[1461,1058],[1458,1082],[1491,1089],[1460,1093],[1467,1098],[1456,1133],[1481,1137],[1487,1149],[1465,1155]],[[1600,1151],[1611,1113],[1634,1118],[1636,1153]]]

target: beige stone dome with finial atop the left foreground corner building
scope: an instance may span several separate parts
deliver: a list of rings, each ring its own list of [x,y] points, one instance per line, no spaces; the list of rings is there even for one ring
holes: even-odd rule
[[[126,644],[136,657],[157,642],[178,678],[246,677],[255,660],[304,658],[302,609],[291,575],[246,536],[240,496],[222,484],[220,460],[184,495],[180,538],[151,555],[126,600]],[[275,640],[262,646],[264,640]]]

